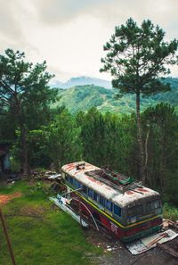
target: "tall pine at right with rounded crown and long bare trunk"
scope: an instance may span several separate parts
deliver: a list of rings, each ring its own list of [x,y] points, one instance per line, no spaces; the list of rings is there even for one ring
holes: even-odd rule
[[[143,21],[141,27],[133,19],[125,25],[116,27],[109,42],[104,46],[107,51],[101,59],[101,71],[109,71],[113,77],[112,85],[120,89],[121,94],[136,95],[137,140],[139,145],[140,175],[145,183],[145,155],[142,141],[140,115],[141,95],[153,95],[164,92],[170,87],[163,84],[161,75],[170,72],[167,64],[175,63],[178,42],[164,41],[165,32],[151,21]]]

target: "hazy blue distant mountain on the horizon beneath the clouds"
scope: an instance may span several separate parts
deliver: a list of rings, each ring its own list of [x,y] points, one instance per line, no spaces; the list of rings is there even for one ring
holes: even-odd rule
[[[59,88],[70,88],[77,86],[85,86],[85,85],[93,85],[98,87],[111,88],[111,82],[104,79],[95,79],[90,77],[77,77],[69,79],[66,83],[62,83],[60,81],[54,81],[51,87],[59,87]]]

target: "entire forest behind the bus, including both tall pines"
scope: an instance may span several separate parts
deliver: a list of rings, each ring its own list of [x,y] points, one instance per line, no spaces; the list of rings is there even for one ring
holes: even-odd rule
[[[142,180],[165,202],[178,206],[176,92],[173,104],[160,97],[169,93],[171,98],[174,79],[158,79],[169,73],[165,62],[176,63],[177,41],[168,44],[163,38],[162,29],[150,21],[143,21],[141,29],[130,19],[104,46],[108,54],[101,59],[101,71],[109,71],[113,78],[115,102],[132,95],[136,107],[129,112],[116,112],[117,106],[115,112],[101,112],[98,105],[85,108],[85,96],[83,109],[68,110],[58,104],[61,90],[49,86],[53,75],[46,62],[34,65],[12,49],[1,54],[0,144],[8,146],[12,172],[30,179],[34,170],[59,171],[65,163],[88,161]],[[147,96],[155,96],[154,104],[142,108]]]

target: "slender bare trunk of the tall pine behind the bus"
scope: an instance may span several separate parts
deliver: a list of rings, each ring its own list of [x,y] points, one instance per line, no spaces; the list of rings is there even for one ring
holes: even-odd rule
[[[139,146],[139,167],[140,178],[142,184],[145,184],[145,171],[144,171],[144,152],[142,141],[142,125],[141,125],[141,113],[140,113],[140,92],[136,93],[136,121],[137,121],[137,141]]]

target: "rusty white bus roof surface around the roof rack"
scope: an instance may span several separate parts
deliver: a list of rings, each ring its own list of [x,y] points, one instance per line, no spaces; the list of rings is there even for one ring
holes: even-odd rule
[[[93,166],[85,161],[66,164],[62,166],[61,170],[120,207],[128,205],[133,206],[134,204],[142,203],[145,199],[149,200],[150,197],[159,196],[158,192],[145,186],[138,186],[132,190],[128,188],[122,191],[122,189],[117,186],[113,187],[105,183],[104,179],[93,178],[87,175],[87,172],[101,170],[101,168]]]

